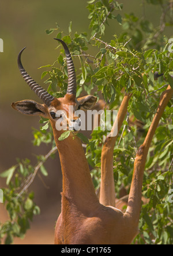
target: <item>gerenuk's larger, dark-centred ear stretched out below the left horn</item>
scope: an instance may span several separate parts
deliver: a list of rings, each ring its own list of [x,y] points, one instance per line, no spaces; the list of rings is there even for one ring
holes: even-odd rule
[[[12,103],[12,108],[24,115],[47,116],[46,107],[42,104],[36,103],[36,101],[33,100],[17,101],[16,103]]]

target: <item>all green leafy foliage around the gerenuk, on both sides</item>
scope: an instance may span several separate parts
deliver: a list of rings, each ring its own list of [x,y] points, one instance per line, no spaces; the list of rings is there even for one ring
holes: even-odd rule
[[[159,27],[145,18],[145,5],[148,4],[160,6]],[[173,50],[169,38],[164,35],[166,26],[173,24],[172,1],[143,1],[142,17],[136,17],[133,13],[122,16],[123,5],[114,0],[91,0],[87,8],[90,35],[86,32],[73,34],[72,22],[69,23],[68,34],[64,34],[58,26],[46,30],[46,33],[50,35],[58,31],[56,37],[67,43],[75,63],[79,60],[81,68],[77,71],[77,96],[87,93],[103,97],[109,109],[118,109],[123,93],[133,93],[129,114],[123,122],[114,149],[115,190],[119,198],[122,186],[129,192],[134,157],[144,141],[161,92],[168,84],[173,88]],[[114,35],[107,43],[104,41],[104,32],[109,20],[121,24],[122,33]],[[91,55],[91,52],[95,54]],[[42,67],[42,79],[47,77],[44,83],[48,84],[48,92],[55,97],[62,97],[67,88],[67,67],[62,47],[61,53],[57,55],[52,65]],[[155,80],[155,72],[163,75]],[[173,204],[168,200],[168,192],[173,188],[172,110],[171,101],[157,127],[148,153],[143,184],[143,199],[146,202],[142,204],[140,234],[134,240],[136,244],[173,243]],[[141,131],[136,125],[129,125],[132,116],[145,124]],[[10,219],[0,225],[0,240],[6,235],[7,244],[12,243],[15,236],[24,236],[29,228],[29,220],[39,213],[39,208],[33,202],[33,192],[29,193],[26,185],[35,170],[40,169],[43,175],[48,174],[43,163],[55,152],[48,120],[42,118],[40,123],[40,130],[33,131],[33,144],[51,144],[51,153],[46,158],[39,156],[36,167],[28,159],[18,160],[16,166],[1,174],[1,177],[7,178],[4,195]],[[106,134],[107,131],[94,130],[86,148],[86,158],[93,169],[92,178],[96,189],[99,189],[100,184],[100,156]],[[67,136],[69,132],[63,134],[60,140]],[[88,142],[84,136],[78,136]],[[22,187],[24,191],[20,194]]]

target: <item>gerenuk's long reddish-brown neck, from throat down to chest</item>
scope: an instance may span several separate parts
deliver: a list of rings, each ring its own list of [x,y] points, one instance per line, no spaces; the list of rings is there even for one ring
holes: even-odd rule
[[[80,139],[70,134],[59,141],[59,132],[51,124],[59,151],[63,176],[63,195],[82,211],[99,204],[91,179],[88,162]]]

